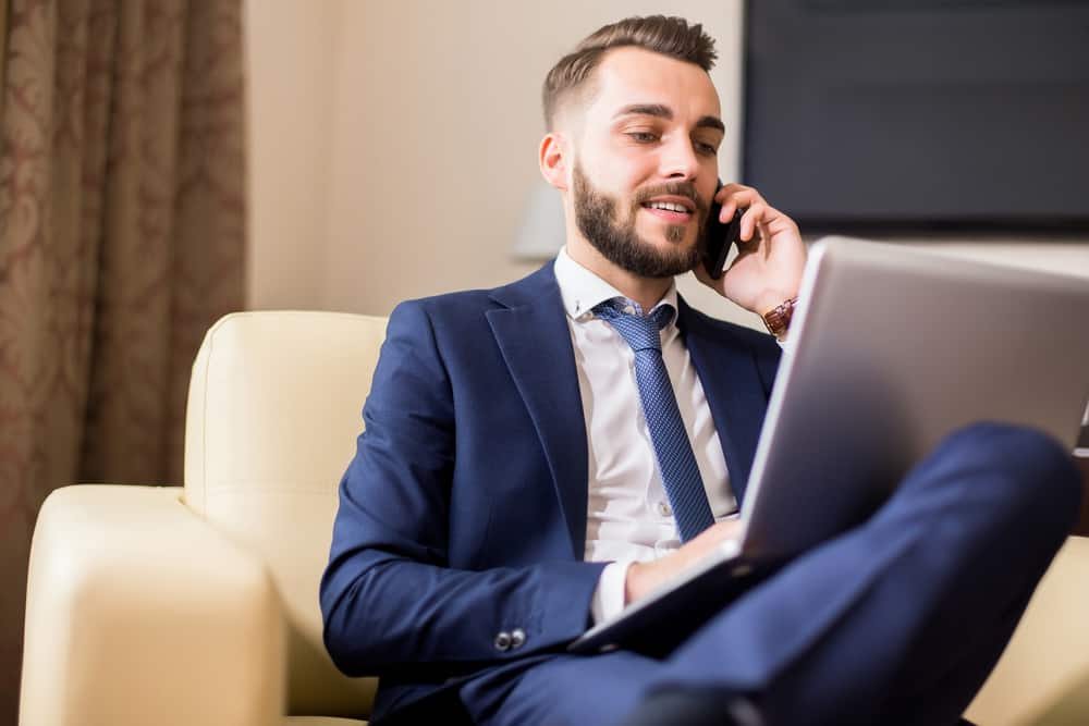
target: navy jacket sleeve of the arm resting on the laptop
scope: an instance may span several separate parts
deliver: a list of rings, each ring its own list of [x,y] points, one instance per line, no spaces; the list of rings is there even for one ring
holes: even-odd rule
[[[454,393],[420,303],[390,317],[364,422],[320,586],[325,643],[341,670],[381,676],[433,664],[456,672],[554,648],[585,630],[604,563],[449,566]],[[497,648],[500,632],[515,630],[525,633],[523,645]]]

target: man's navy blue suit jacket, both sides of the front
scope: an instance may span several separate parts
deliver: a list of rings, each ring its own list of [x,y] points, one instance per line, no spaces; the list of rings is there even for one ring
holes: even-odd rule
[[[780,348],[684,300],[677,324],[741,497]],[[376,715],[586,629],[604,564],[583,562],[586,424],[551,263],[397,306],[363,415],[320,600],[338,667],[381,677]],[[497,650],[514,629],[525,644]]]

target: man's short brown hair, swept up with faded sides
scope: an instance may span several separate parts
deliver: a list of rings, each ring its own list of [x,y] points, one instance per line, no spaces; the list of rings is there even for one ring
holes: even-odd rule
[[[605,25],[561,58],[544,77],[541,102],[547,131],[552,131],[560,106],[576,90],[583,89],[604,54],[613,48],[623,47],[650,50],[694,63],[705,71],[714,67],[714,60],[719,57],[714,50],[714,38],[703,33],[703,26],[698,23],[689,25],[683,17],[626,17]]]

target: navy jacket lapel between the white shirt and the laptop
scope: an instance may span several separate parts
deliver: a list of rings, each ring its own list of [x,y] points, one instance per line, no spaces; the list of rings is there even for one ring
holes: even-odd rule
[[[738,503],[745,496],[768,401],[749,346],[678,299],[677,325],[719,432]]]

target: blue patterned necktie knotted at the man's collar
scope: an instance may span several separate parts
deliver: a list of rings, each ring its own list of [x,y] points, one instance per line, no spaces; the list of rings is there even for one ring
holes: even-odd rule
[[[670,374],[662,360],[659,331],[673,319],[673,308],[659,306],[649,316],[623,311],[623,298],[614,298],[594,308],[594,312],[611,324],[635,352],[635,381],[639,385],[643,413],[650,429],[658,468],[677,521],[681,541],[687,542],[714,524],[707,492],[699,477],[692,442],[681,419],[681,409],[673,393]]]

